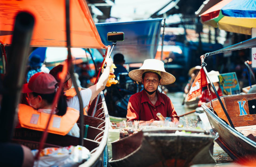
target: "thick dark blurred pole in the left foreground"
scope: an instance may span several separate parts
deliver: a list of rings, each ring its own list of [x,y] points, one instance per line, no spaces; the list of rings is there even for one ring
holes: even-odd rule
[[[34,28],[34,17],[26,12],[18,13],[15,19],[12,45],[8,56],[7,75],[4,79],[3,100],[0,112],[0,141],[8,142],[13,135],[14,117],[20,102],[29,44]]]

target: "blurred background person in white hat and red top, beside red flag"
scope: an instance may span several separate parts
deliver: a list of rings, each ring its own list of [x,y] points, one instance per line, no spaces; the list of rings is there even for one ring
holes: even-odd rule
[[[208,72],[208,74],[211,78],[211,81],[212,81],[218,95],[223,96],[221,88],[220,88],[220,84],[219,84],[219,77],[218,77],[218,75],[220,75],[220,72],[211,70],[210,72]],[[208,78],[207,78],[207,82],[208,82],[208,84],[210,83]],[[217,96],[215,95],[214,89],[211,87],[211,85],[209,85],[209,88],[210,88],[210,94],[211,94],[210,96],[211,97],[209,96],[209,92],[207,89],[202,91],[202,96],[200,97],[200,101],[198,102],[198,107],[201,107],[201,105],[208,103],[210,100],[214,100],[217,98]]]

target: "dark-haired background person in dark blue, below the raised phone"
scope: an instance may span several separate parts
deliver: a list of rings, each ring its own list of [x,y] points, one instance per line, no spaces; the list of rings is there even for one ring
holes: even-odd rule
[[[124,56],[121,53],[116,53],[113,57],[114,64],[116,68],[114,69],[114,74],[117,77],[119,73],[128,72],[126,68],[123,66],[125,63]]]

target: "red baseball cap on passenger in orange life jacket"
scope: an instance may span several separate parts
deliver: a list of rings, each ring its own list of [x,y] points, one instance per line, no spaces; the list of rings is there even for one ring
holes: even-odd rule
[[[53,94],[56,92],[57,83],[53,75],[38,72],[31,76],[28,83],[23,85],[22,93]]]

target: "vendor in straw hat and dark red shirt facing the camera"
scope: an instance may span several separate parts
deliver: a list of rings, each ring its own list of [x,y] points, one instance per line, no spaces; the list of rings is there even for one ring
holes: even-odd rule
[[[175,81],[175,77],[165,71],[162,61],[147,59],[140,69],[130,71],[129,76],[142,82],[144,89],[131,96],[127,107],[127,121],[157,123],[157,113],[172,117],[174,122],[179,121],[170,98],[157,91],[159,85],[169,85]]]

